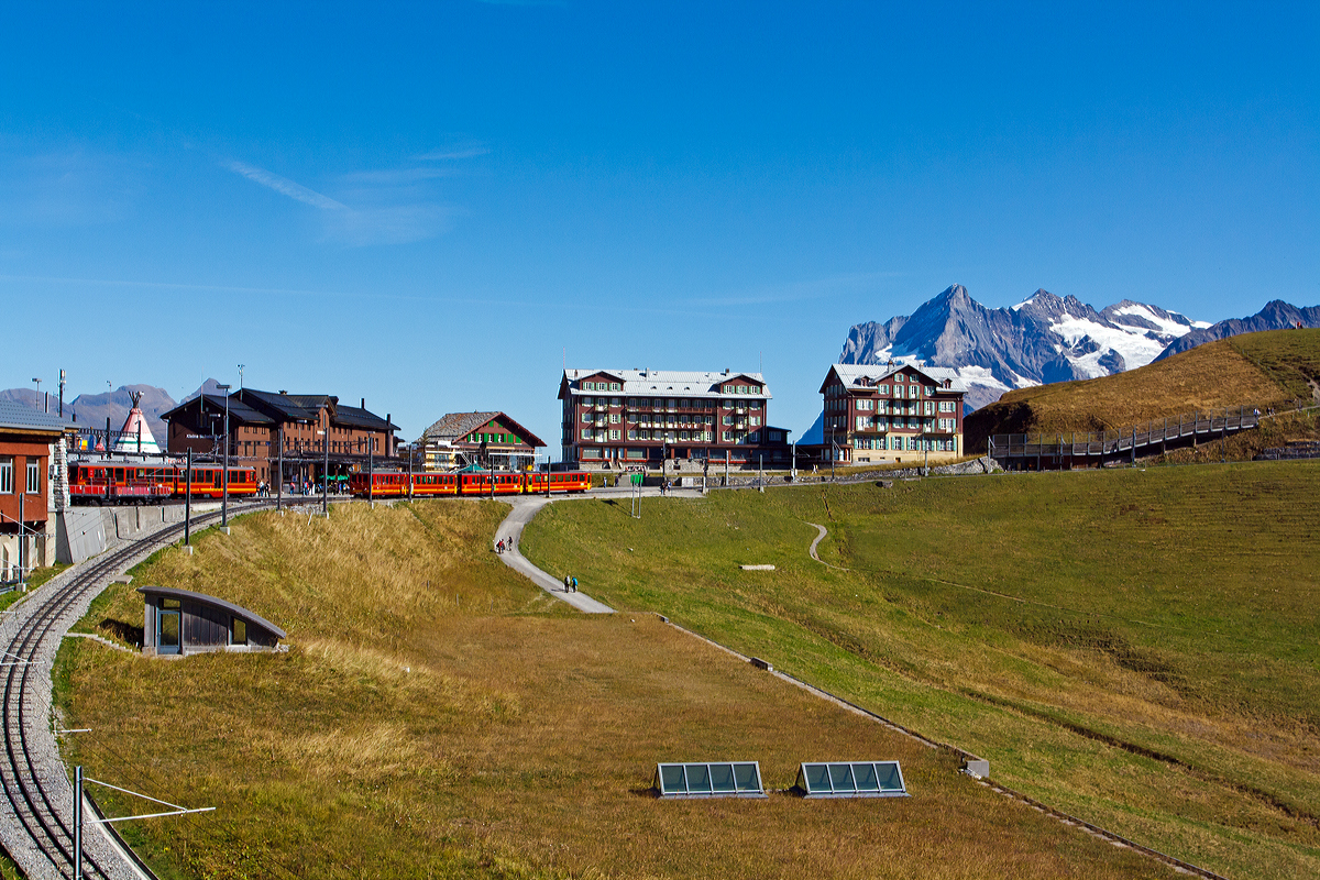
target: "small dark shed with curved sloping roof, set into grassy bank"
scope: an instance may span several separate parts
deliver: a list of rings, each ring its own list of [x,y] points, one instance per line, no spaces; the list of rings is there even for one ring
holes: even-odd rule
[[[210,650],[277,650],[286,632],[247,608],[203,592],[139,587],[147,603],[143,653],[199,654]]]

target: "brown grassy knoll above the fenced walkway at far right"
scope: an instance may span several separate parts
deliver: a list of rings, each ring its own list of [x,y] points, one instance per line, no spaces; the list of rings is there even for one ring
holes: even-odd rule
[[[1320,330],[1220,339],[1115,376],[1011,391],[965,421],[968,449],[991,434],[1068,434],[1224,406],[1292,408],[1320,400]]]

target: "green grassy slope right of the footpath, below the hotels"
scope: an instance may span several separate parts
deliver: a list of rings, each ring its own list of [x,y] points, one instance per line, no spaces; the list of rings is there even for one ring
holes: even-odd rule
[[[1317,491],[1284,463],[587,501],[523,549],[1069,813],[1282,880],[1320,876]]]

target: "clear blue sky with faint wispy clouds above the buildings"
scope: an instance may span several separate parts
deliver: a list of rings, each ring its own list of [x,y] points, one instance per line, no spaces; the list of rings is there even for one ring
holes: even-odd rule
[[[244,363],[557,447],[565,358],[763,365],[800,434],[953,282],[1315,305],[1317,50],[1313,3],[5,4],[0,387]]]

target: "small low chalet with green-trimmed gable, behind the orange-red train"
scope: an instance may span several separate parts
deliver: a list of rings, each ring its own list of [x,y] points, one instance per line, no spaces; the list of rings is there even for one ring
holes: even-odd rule
[[[478,466],[492,471],[535,467],[545,441],[499,412],[447,413],[413,443],[413,462],[424,471]]]

